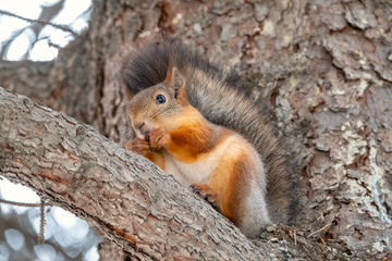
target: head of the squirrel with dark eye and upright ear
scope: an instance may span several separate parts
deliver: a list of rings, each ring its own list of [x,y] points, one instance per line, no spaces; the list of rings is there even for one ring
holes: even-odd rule
[[[172,66],[163,83],[137,92],[127,102],[126,113],[136,136],[144,139],[154,128],[175,128],[188,104],[185,79],[179,70]]]

